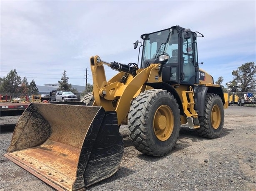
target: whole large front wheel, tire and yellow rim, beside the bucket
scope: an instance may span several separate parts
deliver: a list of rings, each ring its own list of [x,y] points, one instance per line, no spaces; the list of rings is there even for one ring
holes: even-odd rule
[[[166,90],[140,93],[128,114],[130,139],[135,148],[147,155],[161,157],[173,149],[180,132],[180,109]]]

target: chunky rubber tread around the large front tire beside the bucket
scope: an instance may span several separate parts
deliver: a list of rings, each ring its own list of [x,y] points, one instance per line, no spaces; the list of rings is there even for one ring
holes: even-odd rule
[[[150,140],[148,136],[148,128],[152,128],[147,125],[148,120],[150,120],[148,119],[150,108],[152,107],[156,98],[159,98],[160,96],[166,96],[167,94],[171,97],[171,99],[175,101],[177,110],[173,112],[177,112],[179,114],[180,110],[174,96],[171,95],[171,93],[161,89],[144,91],[133,100],[131,105],[131,109],[128,114],[128,128],[130,131],[129,137],[136,149],[144,154],[158,157],[166,155],[171,152],[178,140],[180,128],[177,132],[177,135],[174,136],[174,144],[165,152],[161,152],[153,147],[154,142],[153,140]],[[173,132],[175,132],[175,130],[173,130]]]

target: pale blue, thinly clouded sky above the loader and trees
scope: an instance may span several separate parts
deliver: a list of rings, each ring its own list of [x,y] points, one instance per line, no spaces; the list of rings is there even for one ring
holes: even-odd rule
[[[93,83],[90,56],[123,64],[137,62],[133,42],[141,34],[179,25],[198,31],[200,67],[214,81],[256,59],[256,1],[1,0],[0,77],[16,69],[36,85]],[[117,71],[105,66],[107,79]]]

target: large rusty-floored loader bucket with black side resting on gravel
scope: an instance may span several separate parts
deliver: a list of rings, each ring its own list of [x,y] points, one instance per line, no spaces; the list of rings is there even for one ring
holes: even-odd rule
[[[4,156],[57,190],[79,190],[113,175],[123,151],[116,112],[31,103]]]

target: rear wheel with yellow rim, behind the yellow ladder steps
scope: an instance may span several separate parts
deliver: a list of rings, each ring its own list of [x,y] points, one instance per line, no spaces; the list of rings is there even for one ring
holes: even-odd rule
[[[206,94],[204,116],[199,117],[200,128],[196,132],[201,137],[217,138],[221,135],[224,125],[223,103],[217,94]]]

